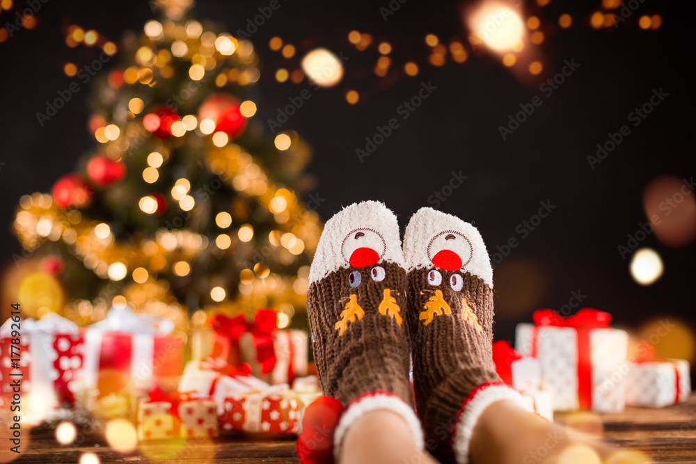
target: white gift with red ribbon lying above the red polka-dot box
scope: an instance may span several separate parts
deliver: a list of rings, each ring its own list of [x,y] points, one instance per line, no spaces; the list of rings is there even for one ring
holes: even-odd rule
[[[219,358],[189,361],[179,382],[179,392],[194,398],[212,398],[219,414],[227,397],[250,390],[263,390],[269,384]]]

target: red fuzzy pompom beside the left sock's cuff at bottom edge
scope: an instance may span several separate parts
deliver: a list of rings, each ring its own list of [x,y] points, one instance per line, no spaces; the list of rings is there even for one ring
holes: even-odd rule
[[[341,402],[326,395],[307,406],[296,445],[301,463],[333,463],[333,432],[342,412]]]

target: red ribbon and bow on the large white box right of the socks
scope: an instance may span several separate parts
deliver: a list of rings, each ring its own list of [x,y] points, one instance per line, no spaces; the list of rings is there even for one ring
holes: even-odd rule
[[[532,331],[532,356],[537,355],[539,328],[571,327],[578,333],[578,406],[592,409],[592,360],[590,358],[590,330],[611,328],[611,314],[584,307],[573,316],[562,317],[553,310],[537,310],[532,317],[535,328]]]

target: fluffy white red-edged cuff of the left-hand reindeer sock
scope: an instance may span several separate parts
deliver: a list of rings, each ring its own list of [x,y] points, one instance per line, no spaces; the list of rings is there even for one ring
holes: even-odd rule
[[[341,442],[343,441],[343,437],[348,431],[349,426],[351,426],[351,424],[353,424],[358,417],[361,417],[363,414],[376,409],[386,409],[400,415],[409,426],[409,429],[413,434],[413,441],[416,442],[416,446],[420,449],[425,446],[423,429],[421,428],[420,421],[416,416],[416,411],[414,411],[411,406],[406,404],[404,400],[393,393],[370,392],[365,393],[361,397],[351,401],[345,411],[343,411],[343,414],[338,421],[338,425],[333,433],[333,456],[337,463],[341,453]]]

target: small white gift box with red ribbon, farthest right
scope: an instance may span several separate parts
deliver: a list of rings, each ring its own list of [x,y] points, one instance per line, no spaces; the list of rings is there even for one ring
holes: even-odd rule
[[[686,401],[691,394],[689,362],[658,358],[654,346],[647,342],[640,348],[626,375],[626,404],[662,408]]]

